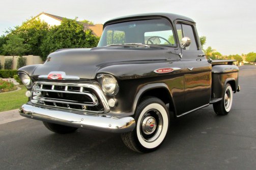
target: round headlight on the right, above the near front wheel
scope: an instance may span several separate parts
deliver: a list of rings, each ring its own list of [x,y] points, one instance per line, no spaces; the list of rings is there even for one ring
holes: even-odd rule
[[[108,95],[116,95],[119,87],[115,77],[106,74],[99,74],[97,76],[103,91]]]

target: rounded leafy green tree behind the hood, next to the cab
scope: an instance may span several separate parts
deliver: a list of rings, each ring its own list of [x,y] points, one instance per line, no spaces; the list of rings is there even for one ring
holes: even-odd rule
[[[94,36],[91,29],[84,31],[83,25],[75,19],[63,19],[61,25],[53,26],[47,32],[40,47],[42,59],[58,49],[63,48],[92,48],[96,47],[99,38]]]

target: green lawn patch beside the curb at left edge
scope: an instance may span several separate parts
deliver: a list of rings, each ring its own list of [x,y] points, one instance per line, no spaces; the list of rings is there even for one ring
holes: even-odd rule
[[[27,97],[25,96],[25,86],[22,85],[19,87],[21,87],[21,90],[0,93],[0,112],[19,109],[21,105],[27,102]]]

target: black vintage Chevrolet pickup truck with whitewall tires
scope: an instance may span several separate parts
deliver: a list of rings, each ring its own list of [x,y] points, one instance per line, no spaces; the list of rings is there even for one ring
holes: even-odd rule
[[[217,115],[231,111],[239,69],[235,60],[206,59],[192,19],[151,13],[103,27],[98,47],[57,50],[18,70],[29,97],[21,116],[56,133],[117,132],[145,153],[163,143],[170,114],[211,104]]]

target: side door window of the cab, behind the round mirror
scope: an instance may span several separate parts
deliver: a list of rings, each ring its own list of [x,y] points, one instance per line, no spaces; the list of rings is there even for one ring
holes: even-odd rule
[[[177,32],[178,32],[178,38],[180,42],[180,46],[182,46],[182,38],[183,37],[188,37],[191,40],[190,46],[184,48],[186,50],[198,50],[198,46],[195,40],[195,35],[193,31],[193,27],[188,24],[183,24],[183,23],[177,23],[176,24]]]

